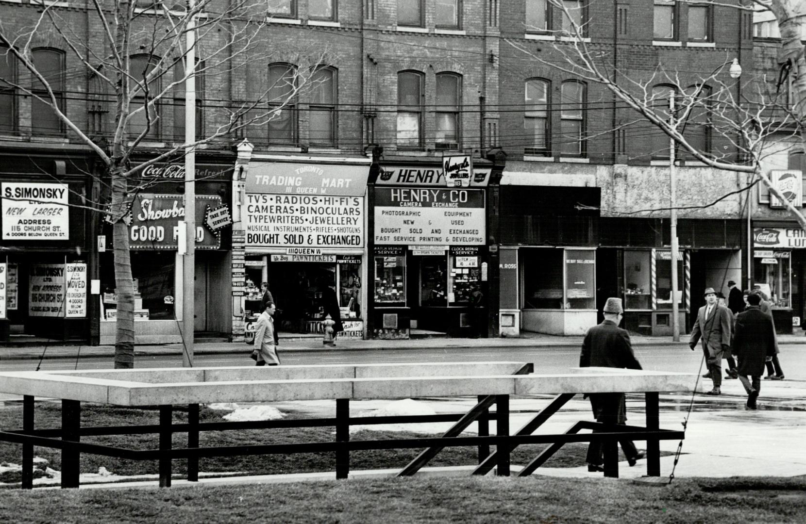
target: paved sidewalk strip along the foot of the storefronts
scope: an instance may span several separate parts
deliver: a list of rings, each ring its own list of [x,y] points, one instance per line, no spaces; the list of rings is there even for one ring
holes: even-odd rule
[[[327,352],[334,349],[341,351],[375,351],[434,348],[574,348],[582,345],[582,336],[555,336],[542,333],[524,333],[519,337],[501,338],[418,338],[413,340],[338,340],[334,347],[322,345],[319,337],[283,336],[280,333],[280,349],[283,351],[318,351]],[[680,341],[671,340],[671,336],[631,336],[635,347],[688,347],[688,335],[680,336]],[[779,345],[806,344],[806,336],[779,335]],[[0,346],[0,361],[3,359],[39,358],[76,358],[107,357],[114,355],[113,345],[24,345],[22,347]],[[194,345],[193,353],[197,355],[244,353],[247,345],[243,342],[209,342]],[[179,355],[181,344],[135,345],[135,355]]]

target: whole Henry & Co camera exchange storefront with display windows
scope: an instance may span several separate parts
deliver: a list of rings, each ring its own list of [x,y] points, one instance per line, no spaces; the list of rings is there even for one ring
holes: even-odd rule
[[[491,169],[474,169],[469,157],[448,164],[463,166],[458,183],[439,164],[392,164],[371,189],[375,338],[408,338],[411,329],[487,336]]]

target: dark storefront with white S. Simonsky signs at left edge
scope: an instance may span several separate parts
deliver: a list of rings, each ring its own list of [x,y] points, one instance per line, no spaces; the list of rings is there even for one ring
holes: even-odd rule
[[[2,156],[0,172],[0,341],[88,342],[91,163]]]

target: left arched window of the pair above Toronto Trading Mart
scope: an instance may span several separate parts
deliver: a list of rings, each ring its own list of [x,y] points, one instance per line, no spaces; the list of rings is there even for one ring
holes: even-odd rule
[[[268,120],[269,143],[297,142],[296,73],[290,64],[268,66],[268,109],[274,112]]]

